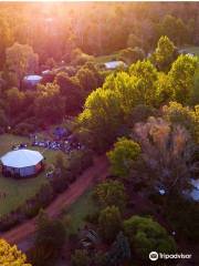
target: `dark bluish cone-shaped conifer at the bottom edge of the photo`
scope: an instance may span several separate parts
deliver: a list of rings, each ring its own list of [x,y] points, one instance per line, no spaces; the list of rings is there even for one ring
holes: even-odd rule
[[[111,250],[106,254],[106,262],[108,265],[119,266],[129,262],[130,257],[128,239],[123,232],[119,232],[116,241],[112,244]]]

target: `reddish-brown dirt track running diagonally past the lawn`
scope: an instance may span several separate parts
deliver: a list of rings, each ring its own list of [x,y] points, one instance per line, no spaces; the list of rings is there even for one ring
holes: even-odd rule
[[[93,183],[104,180],[107,174],[107,160],[105,156],[94,158],[94,165],[87,168],[69,190],[57,196],[49,207],[45,208],[50,217],[60,214],[63,207],[72,205]],[[35,218],[21,224],[13,229],[0,234],[0,238],[7,239],[10,244],[18,244],[25,241],[35,232]]]

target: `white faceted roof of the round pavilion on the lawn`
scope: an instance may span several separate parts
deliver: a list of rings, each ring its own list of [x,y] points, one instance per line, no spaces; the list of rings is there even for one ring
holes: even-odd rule
[[[43,156],[40,152],[25,149],[8,152],[1,157],[1,162],[4,166],[14,168],[33,166],[40,163],[42,160]]]

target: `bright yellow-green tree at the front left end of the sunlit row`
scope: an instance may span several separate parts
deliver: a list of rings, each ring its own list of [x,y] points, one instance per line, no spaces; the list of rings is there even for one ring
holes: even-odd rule
[[[117,95],[111,90],[97,89],[86,99],[78,124],[91,145],[98,152],[105,151],[116,139],[123,124]]]

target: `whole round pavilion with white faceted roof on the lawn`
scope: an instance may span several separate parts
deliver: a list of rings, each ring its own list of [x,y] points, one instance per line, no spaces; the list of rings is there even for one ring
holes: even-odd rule
[[[43,158],[40,152],[25,149],[8,152],[1,157],[2,173],[15,177],[35,175],[43,167]]]

